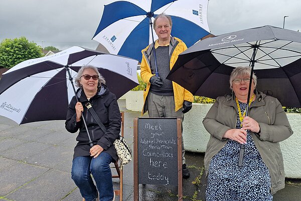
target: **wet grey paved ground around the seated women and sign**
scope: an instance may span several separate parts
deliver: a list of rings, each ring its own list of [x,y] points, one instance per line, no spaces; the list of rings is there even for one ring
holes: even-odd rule
[[[133,119],[140,113],[127,111],[124,100],[118,104],[125,112],[125,138],[132,145]],[[81,200],[70,174],[75,137],[65,130],[64,121],[18,126],[0,117],[0,200]],[[203,154],[186,154],[191,177],[183,183],[184,200],[205,200],[203,158]],[[132,201],[132,162],[124,167],[123,184],[123,200]],[[118,186],[117,180],[114,185]],[[177,200],[176,194],[177,187],[139,185],[142,201]],[[287,180],[285,188],[274,195],[274,201],[280,200],[301,200],[301,180]]]

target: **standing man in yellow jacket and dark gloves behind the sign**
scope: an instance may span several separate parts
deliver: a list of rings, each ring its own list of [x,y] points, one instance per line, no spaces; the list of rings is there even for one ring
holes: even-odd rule
[[[184,113],[192,108],[193,95],[166,77],[177,61],[178,55],[186,50],[187,46],[182,40],[171,37],[172,19],[170,16],[158,15],[154,21],[154,30],[159,38],[155,42],[156,59],[154,44],[142,50],[140,74],[142,80],[147,83],[143,94],[142,114],[148,111],[150,118],[180,118],[183,122]],[[182,138],[183,178],[189,178],[190,172],[186,167],[184,155]]]

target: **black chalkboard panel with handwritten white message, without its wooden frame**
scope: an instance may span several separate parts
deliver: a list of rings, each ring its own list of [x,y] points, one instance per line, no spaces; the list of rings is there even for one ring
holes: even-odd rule
[[[178,185],[177,119],[138,120],[140,184]]]

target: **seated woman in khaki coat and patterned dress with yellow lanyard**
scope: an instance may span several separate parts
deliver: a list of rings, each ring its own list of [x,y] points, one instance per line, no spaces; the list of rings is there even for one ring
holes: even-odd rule
[[[284,188],[279,142],[292,135],[279,101],[256,90],[250,67],[230,75],[231,94],[220,96],[203,120],[210,139],[205,154],[206,200],[272,200]],[[251,94],[245,117],[249,83]],[[245,152],[238,165],[241,144]]]

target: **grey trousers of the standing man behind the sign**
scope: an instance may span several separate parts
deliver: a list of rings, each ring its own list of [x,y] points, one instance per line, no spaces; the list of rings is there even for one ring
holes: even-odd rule
[[[182,164],[185,164],[185,148],[183,141],[183,108],[175,112],[175,97],[173,95],[157,95],[148,92],[147,95],[147,111],[150,118],[179,118],[181,119],[182,129]]]

